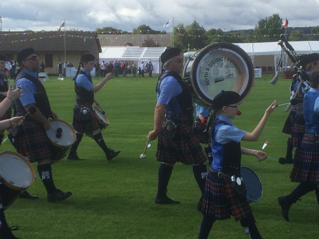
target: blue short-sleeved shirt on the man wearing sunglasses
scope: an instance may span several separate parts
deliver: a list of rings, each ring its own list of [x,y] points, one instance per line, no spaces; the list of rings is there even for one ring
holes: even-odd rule
[[[38,79],[38,73],[37,72],[32,72],[29,70],[24,70],[27,74],[33,76],[34,78]],[[21,101],[23,106],[30,105],[30,104],[35,104],[35,99],[34,99],[34,94],[29,91],[37,92],[37,88],[35,85],[29,81],[26,78],[21,78],[19,79],[15,85],[14,89],[17,89],[21,85],[21,88],[26,89],[28,91],[21,90],[21,93],[23,93],[23,96],[19,97],[19,100]]]

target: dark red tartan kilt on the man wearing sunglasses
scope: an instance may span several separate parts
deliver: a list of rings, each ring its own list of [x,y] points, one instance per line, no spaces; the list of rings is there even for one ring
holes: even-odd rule
[[[23,122],[15,140],[17,152],[26,156],[31,163],[51,159],[51,143],[42,124],[36,121]]]

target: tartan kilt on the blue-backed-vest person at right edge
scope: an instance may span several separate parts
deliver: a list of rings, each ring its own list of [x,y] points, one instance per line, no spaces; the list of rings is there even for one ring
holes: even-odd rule
[[[303,137],[298,156],[295,157],[291,181],[319,184],[319,146],[316,139]]]

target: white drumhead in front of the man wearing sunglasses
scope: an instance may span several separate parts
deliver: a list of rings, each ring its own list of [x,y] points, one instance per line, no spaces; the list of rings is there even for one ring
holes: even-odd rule
[[[50,120],[51,128],[47,130],[48,137],[51,141],[58,145],[67,147],[75,142],[76,136],[74,134],[74,129],[62,120]],[[61,138],[56,137],[56,129],[62,128]]]

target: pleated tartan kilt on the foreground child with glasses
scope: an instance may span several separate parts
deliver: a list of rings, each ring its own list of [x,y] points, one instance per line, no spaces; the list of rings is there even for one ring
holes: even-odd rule
[[[252,211],[246,198],[237,196],[229,177],[221,178],[208,173],[202,199],[202,214],[216,220],[225,220],[231,215],[235,220],[251,217]]]

